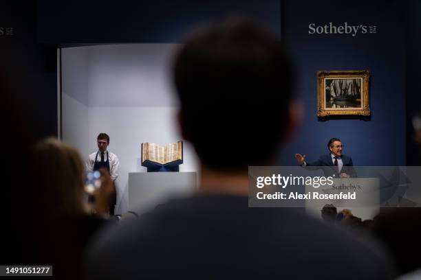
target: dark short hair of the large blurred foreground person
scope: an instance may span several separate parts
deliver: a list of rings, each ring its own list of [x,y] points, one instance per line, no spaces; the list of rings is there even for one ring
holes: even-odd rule
[[[285,47],[257,23],[231,17],[193,33],[174,63],[180,123],[214,170],[264,165],[288,129],[294,75]]]

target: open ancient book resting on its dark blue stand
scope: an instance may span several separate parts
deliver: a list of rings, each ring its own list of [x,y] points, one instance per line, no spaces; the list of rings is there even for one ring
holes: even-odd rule
[[[164,146],[155,143],[142,143],[142,166],[148,172],[178,171],[183,163],[183,142],[170,143]]]

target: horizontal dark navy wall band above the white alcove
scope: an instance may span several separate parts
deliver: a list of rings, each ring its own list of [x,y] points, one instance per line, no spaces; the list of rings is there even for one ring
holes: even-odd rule
[[[177,43],[197,24],[246,14],[280,34],[279,0],[39,1],[40,43]]]

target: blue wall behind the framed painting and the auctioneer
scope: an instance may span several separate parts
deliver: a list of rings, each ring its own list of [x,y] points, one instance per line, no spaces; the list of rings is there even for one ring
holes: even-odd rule
[[[331,137],[342,139],[354,165],[405,165],[405,49],[398,1],[283,1],[283,32],[297,61],[297,93],[305,106],[303,127],[281,152],[279,163],[296,165],[327,153]],[[309,34],[308,25],[376,25],[376,34]],[[319,70],[369,70],[371,120],[316,117]]]

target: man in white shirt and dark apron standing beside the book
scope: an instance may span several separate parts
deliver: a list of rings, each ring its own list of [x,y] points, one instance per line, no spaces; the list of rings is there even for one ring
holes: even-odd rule
[[[109,136],[106,133],[100,133],[98,137],[96,137],[98,151],[89,154],[87,162],[86,162],[86,170],[94,171],[100,170],[101,168],[105,168],[108,170],[113,183],[115,183],[118,177],[118,165],[120,162],[118,161],[118,157],[116,154],[109,152],[107,147],[109,145]],[[115,188],[115,185],[114,185]],[[114,207],[116,205],[116,196],[110,202],[110,209],[109,213],[114,215]]]

